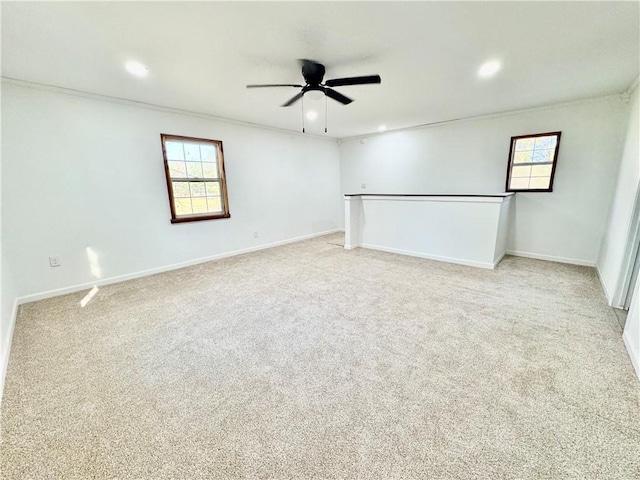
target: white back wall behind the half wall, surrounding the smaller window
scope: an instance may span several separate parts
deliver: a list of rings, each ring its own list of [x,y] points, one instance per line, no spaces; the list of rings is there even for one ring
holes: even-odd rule
[[[509,250],[595,265],[626,110],[608,96],[343,141],[342,192],[501,193],[510,138],[559,130],[554,192],[516,195]]]

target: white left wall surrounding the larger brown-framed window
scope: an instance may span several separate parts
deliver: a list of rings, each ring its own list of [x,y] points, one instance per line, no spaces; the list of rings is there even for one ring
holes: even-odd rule
[[[18,296],[339,227],[335,141],[6,82],[2,104],[3,240]],[[230,219],[170,223],[160,133],[223,141]]]

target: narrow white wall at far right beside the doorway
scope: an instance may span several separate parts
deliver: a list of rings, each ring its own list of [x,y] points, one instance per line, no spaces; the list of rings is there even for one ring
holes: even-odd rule
[[[640,89],[630,100],[627,134],[611,203],[607,229],[602,237],[598,258],[598,273],[607,298],[614,306],[621,306],[617,297],[622,288],[623,260],[630,235],[636,192],[640,185]]]

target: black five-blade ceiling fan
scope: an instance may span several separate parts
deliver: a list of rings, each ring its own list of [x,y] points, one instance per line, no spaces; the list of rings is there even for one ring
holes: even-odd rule
[[[313,60],[300,60],[302,64],[302,76],[304,77],[305,85],[296,85],[291,83],[278,83],[278,84],[267,84],[267,85],[247,85],[247,88],[265,88],[265,87],[295,87],[301,88],[302,90],[295,95],[293,98],[289,99],[286,103],[282,104],[283,107],[289,107],[293,105],[295,102],[300,100],[305,93],[310,91],[320,91],[324,93],[327,97],[333,98],[343,105],[348,105],[353,100],[349,97],[342,95],[339,92],[336,92],[331,87],[345,87],[347,85],[365,85],[368,83],[380,83],[380,75],[367,75],[364,77],[347,77],[347,78],[334,78],[331,80],[327,80],[322,83],[322,79],[324,78],[325,68],[324,65],[318,62],[314,62]]]

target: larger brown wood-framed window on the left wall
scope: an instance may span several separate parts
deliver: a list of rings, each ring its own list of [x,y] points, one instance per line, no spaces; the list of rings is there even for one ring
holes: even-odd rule
[[[222,142],[160,135],[171,223],[229,218]]]

